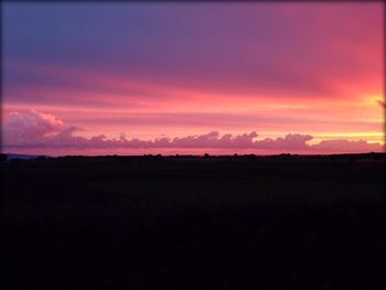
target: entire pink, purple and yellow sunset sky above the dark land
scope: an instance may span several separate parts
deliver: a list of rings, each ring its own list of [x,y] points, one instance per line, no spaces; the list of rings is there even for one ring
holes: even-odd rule
[[[2,3],[2,151],[384,151],[384,3]]]

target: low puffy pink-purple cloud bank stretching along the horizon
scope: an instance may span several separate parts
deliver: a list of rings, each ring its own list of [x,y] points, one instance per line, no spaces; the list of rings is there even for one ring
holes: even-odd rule
[[[277,139],[266,138],[258,140],[256,131],[243,135],[221,135],[212,131],[204,135],[178,138],[158,138],[154,140],[127,139],[121,133],[118,139],[108,139],[105,135],[90,138],[75,136],[77,127],[67,126],[53,115],[29,110],[26,112],[12,112],[3,121],[3,149],[13,148],[53,148],[53,149],[265,149],[282,150],[282,152],[382,152],[379,143],[368,143],[364,140],[323,140],[317,144],[309,144],[313,139],[311,135],[289,133]]]

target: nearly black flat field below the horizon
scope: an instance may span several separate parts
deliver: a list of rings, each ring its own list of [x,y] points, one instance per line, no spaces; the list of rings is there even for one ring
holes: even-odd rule
[[[2,289],[383,289],[385,155],[2,164]]]

